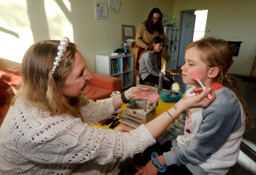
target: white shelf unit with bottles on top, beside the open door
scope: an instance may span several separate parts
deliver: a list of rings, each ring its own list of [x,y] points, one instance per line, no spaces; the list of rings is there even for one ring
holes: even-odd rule
[[[165,70],[173,70],[178,64],[179,30],[171,27],[164,27],[166,36],[166,67]]]

